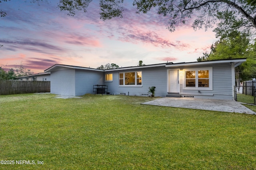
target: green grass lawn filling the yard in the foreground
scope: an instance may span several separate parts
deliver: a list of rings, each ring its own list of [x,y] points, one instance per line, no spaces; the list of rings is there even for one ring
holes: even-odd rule
[[[0,169],[256,169],[255,115],[149,100],[0,96]]]

